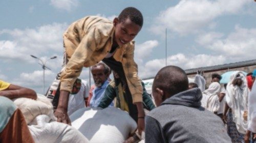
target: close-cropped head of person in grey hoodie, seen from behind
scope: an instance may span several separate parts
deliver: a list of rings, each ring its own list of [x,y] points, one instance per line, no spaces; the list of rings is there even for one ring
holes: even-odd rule
[[[185,71],[176,66],[167,66],[157,73],[152,86],[152,94],[156,106],[159,106],[165,99],[187,89],[188,78]]]

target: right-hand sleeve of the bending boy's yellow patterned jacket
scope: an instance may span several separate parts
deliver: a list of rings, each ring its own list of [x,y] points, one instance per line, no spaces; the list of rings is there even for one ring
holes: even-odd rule
[[[134,61],[134,44],[126,48],[123,54],[122,66],[126,75],[127,84],[132,94],[133,103],[142,102],[142,85],[138,77],[138,66]]]

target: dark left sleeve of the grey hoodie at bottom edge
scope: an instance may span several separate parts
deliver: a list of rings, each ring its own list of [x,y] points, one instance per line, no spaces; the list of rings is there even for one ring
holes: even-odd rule
[[[163,137],[163,130],[160,123],[150,116],[146,116],[145,118],[145,142],[167,142]]]

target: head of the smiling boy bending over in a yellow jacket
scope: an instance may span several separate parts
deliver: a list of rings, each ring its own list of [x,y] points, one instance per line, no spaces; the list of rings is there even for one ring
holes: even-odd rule
[[[115,34],[114,43],[122,46],[131,42],[141,30],[143,16],[139,10],[128,7],[122,10],[114,21]]]

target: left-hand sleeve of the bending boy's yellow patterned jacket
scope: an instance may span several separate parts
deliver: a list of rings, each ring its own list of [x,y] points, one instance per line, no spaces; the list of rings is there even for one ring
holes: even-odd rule
[[[90,59],[92,53],[96,50],[96,41],[99,41],[99,35],[99,31],[94,27],[83,37],[66,65],[65,70],[60,75],[60,90],[72,91],[73,84],[80,75],[83,64]]]

